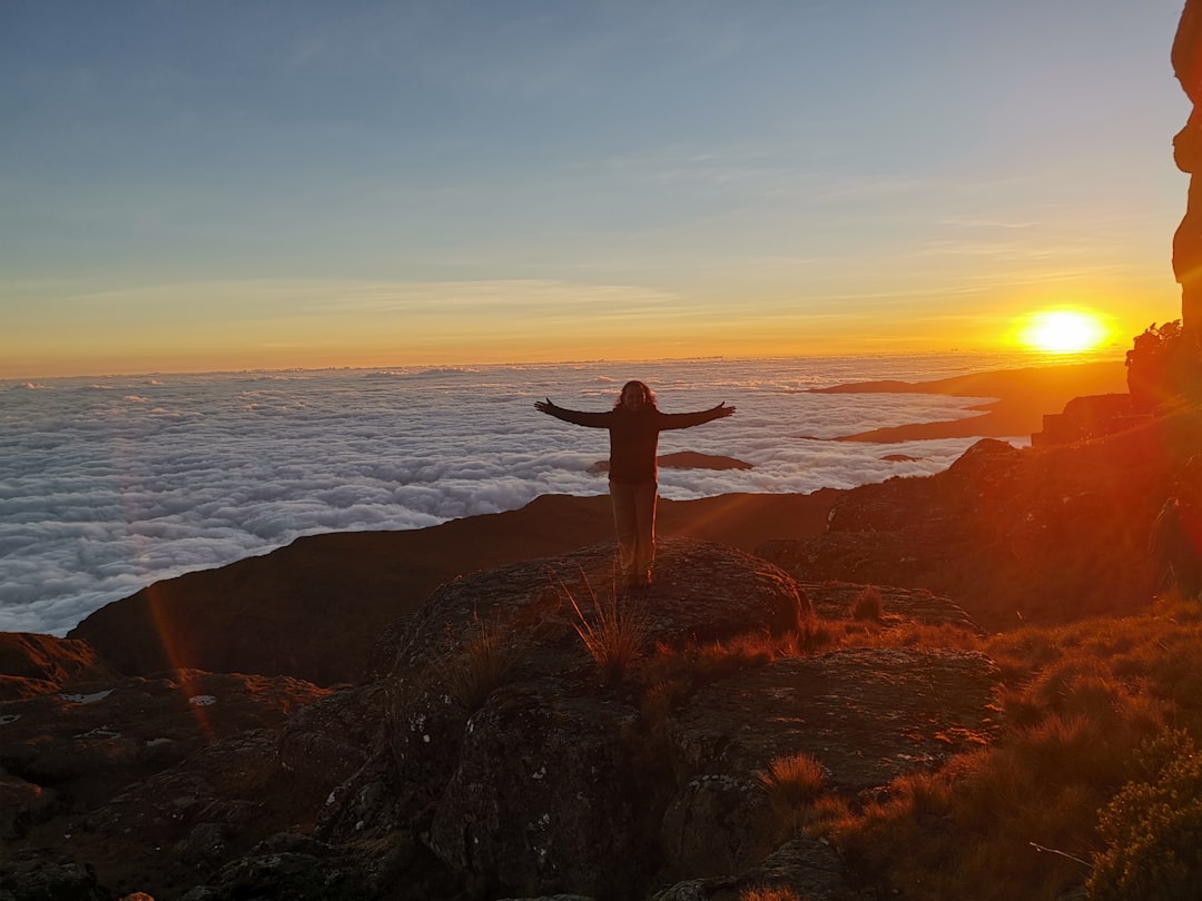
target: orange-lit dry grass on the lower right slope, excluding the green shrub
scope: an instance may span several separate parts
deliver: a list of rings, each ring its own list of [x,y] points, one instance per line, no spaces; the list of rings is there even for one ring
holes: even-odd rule
[[[807,831],[905,897],[1083,897],[1099,811],[1148,769],[1137,748],[1166,726],[1202,736],[1202,623],[1188,614],[976,639],[1002,674],[1000,739],[859,804],[823,796]]]

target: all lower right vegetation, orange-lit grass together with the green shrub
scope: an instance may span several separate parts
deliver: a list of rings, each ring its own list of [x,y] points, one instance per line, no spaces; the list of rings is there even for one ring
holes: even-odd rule
[[[822,799],[808,833],[916,901],[1085,897],[1087,882],[1094,901],[1197,897],[1202,754],[1147,741],[1202,735],[1202,626],[1087,620],[981,650],[1002,673],[999,740],[873,796]]]

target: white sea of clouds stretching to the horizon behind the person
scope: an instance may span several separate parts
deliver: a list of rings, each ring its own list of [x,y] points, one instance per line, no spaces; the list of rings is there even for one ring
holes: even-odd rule
[[[534,401],[545,396],[606,410],[623,382],[644,378],[666,412],[726,401],[737,416],[664,432],[660,453],[754,469],[665,469],[661,495],[809,493],[946,469],[974,438],[831,438],[974,416],[982,400],[809,389],[1012,365],[960,356],[597,362],[0,384],[0,631],[61,636],[156,580],[303,535],[421,529],[543,494],[603,494],[605,476],[589,467],[607,455],[606,432],[542,416]]]

